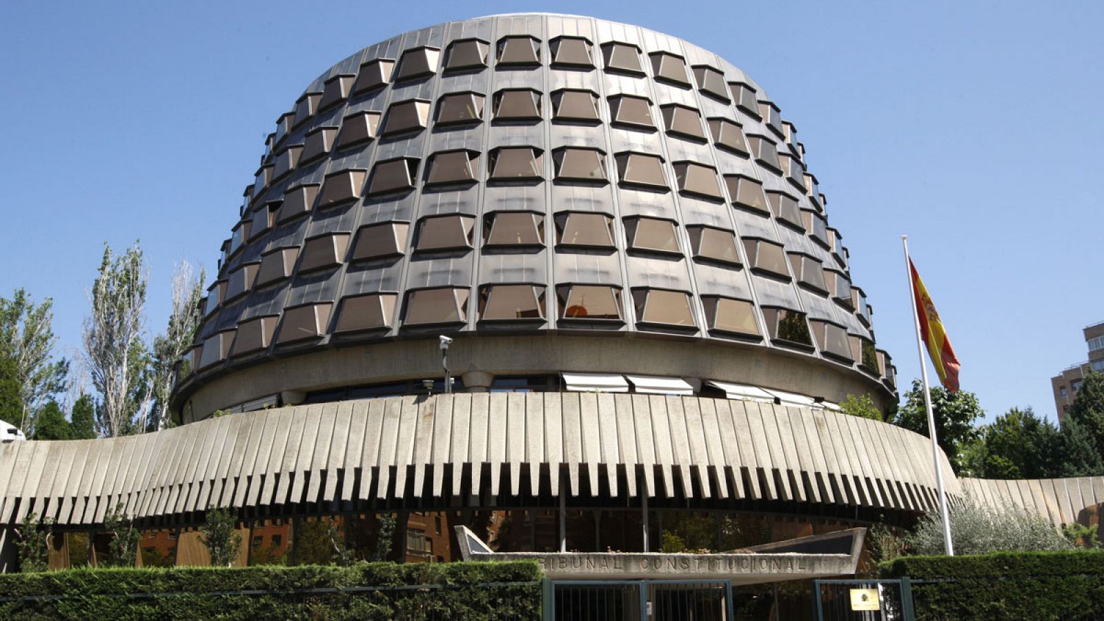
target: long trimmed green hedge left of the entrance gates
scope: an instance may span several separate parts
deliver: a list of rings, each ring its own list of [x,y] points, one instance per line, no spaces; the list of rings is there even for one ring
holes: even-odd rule
[[[0,619],[535,620],[541,578],[532,561],[7,573]]]

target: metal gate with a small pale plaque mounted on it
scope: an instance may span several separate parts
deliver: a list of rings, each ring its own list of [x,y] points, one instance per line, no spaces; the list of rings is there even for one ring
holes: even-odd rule
[[[912,582],[814,580],[817,621],[914,621]]]

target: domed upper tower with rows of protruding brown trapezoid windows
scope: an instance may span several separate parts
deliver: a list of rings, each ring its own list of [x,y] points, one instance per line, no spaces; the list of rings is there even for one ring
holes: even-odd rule
[[[439,392],[439,335],[457,392],[884,406],[825,203],[778,105],[686,41],[543,14],[408,32],[277,120],[174,406]]]

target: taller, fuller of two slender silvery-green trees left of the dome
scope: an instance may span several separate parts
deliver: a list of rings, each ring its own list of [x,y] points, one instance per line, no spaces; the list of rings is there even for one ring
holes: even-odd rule
[[[137,242],[118,256],[105,244],[83,333],[88,372],[99,393],[96,427],[105,436],[140,430],[151,401],[142,340],[148,281]]]

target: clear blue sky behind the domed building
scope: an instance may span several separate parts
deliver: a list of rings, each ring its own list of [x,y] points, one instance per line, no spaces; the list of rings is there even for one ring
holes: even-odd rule
[[[1104,320],[1104,3],[35,2],[0,7],[0,295],[55,301],[63,349],[106,241],[141,240],[148,328],[173,263],[213,269],[265,136],[307,83],[401,32],[519,11],[651,28],[744,69],[793,120],[901,383],[919,375],[899,235],[989,418],[1054,417]]]

